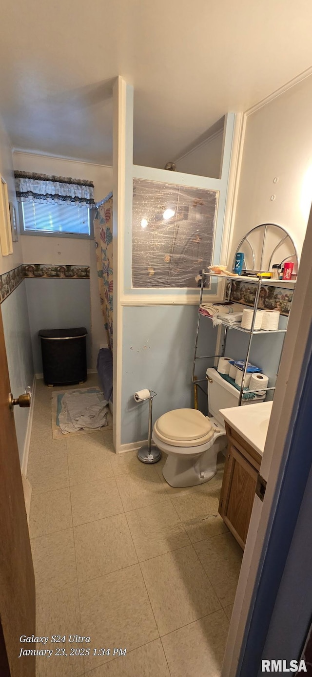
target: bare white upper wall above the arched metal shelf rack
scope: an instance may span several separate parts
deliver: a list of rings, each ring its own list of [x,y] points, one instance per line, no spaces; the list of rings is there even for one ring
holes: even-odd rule
[[[247,115],[230,261],[259,223],[285,227],[301,253],[312,197],[311,110],[308,77]]]

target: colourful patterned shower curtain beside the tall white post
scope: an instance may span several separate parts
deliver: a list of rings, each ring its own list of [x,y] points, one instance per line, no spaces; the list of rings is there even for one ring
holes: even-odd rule
[[[97,276],[107,343],[113,352],[113,195],[97,209],[94,220]]]

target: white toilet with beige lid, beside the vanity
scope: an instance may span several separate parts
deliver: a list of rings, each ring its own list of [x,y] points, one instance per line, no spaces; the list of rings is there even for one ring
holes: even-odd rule
[[[226,449],[224,418],[220,409],[238,406],[239,391],[217,370],[207,369],[208,407],[211,416],[196,409],[174,409],[157,418],[155,445],[167,454],[163,477],[172,487],[193,487],[209,481],[217,471],[217,454]],[[263,401],[242,400],[242,405]]]

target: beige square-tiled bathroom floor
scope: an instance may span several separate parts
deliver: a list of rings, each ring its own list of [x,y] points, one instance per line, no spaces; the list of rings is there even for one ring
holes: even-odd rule
[[[164,462],[114,454],[111,431],[53,440],[51,389],[37,382],[28,461],[36,632],[91,638],[48,644],[68,656],[38,657],[37,677],[219,676],[242,559],[217,512],[222,463],[210,482],[174,489]],[[70,656],[81,647],[90,655]]]

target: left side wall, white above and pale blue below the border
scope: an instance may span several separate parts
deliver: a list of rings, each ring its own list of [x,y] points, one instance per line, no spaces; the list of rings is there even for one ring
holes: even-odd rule
[[[7,181],[9,200],[16,204],[16,192],[14,182],[14,169],[12,152],[9,138],[5,133],[0,119],[0,174]],[[14,253],[3,257],[0,248],[0,275],[16,268],[22,263],[22,243],[14,243]],[[1,303],[3,318],[3,330],[5,347],[7,351],[7,364],[9,368],[9,380],[14,397],[24,393],[28,385],[32,385],[33,366],[30,343],[30,328],[28,322],[28,310],[26,301],[25,282],[22,282],[9,297]],[[16,424],[16,437],[18,439],[18,451],[20,462],[24,453],[26,429],[28,424],[28,409],[14,407],[14,420]]]

